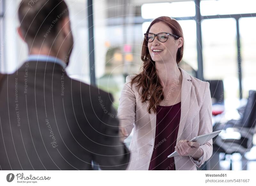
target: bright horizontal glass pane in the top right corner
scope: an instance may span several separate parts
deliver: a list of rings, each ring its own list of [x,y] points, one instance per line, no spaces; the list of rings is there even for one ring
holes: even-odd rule
[[[200,2],[203,16],[256,13],[255,7],[255,0],[203,0]]]

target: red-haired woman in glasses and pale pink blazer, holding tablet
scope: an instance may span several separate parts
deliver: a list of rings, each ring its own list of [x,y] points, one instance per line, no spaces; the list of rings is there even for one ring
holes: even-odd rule
[[[209,83],[178,67],[184,38],[175,19],[153,20],[144,35],[141,72],[127,76],[118,107],[121,136],[133,129],[128,170],[196,170],[212,155],[212,140],[188,141],[212,132]]]

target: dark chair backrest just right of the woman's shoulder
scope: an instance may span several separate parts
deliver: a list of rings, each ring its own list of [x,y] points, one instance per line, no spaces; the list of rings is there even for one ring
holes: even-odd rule
[[[222,80],[206,80],[210,83],[211,97],[217,104],[224,104],[224,85]]]

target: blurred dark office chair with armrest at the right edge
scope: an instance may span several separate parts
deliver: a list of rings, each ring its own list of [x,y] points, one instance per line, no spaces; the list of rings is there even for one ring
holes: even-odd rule
[[[253,134],[255,133],[256,121],[256,91],[250,90],[244,112],[241,112],[240,120],[229,120],[226,123],[217,123],[213,131],[225,130],[224,135],[213,139],[213,151],[227,154],[240,153],[244,157],[245,152],[252,148]],[[231,129],[231,130],[229,130]],[[238,134],[237,137],[227,137],[228,133]],[[226,136],[226,137],[225,137]],[[232,170],[232,159],[230,159],[230,170]]]

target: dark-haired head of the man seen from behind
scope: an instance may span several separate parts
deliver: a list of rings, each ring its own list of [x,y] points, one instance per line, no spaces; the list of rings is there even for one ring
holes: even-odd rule
[[[43,51],[60,58],[69,57],[73,36],[69,11],[64,0],[22,0],[19,7],[21,38],[28,43],[29,53]]]

